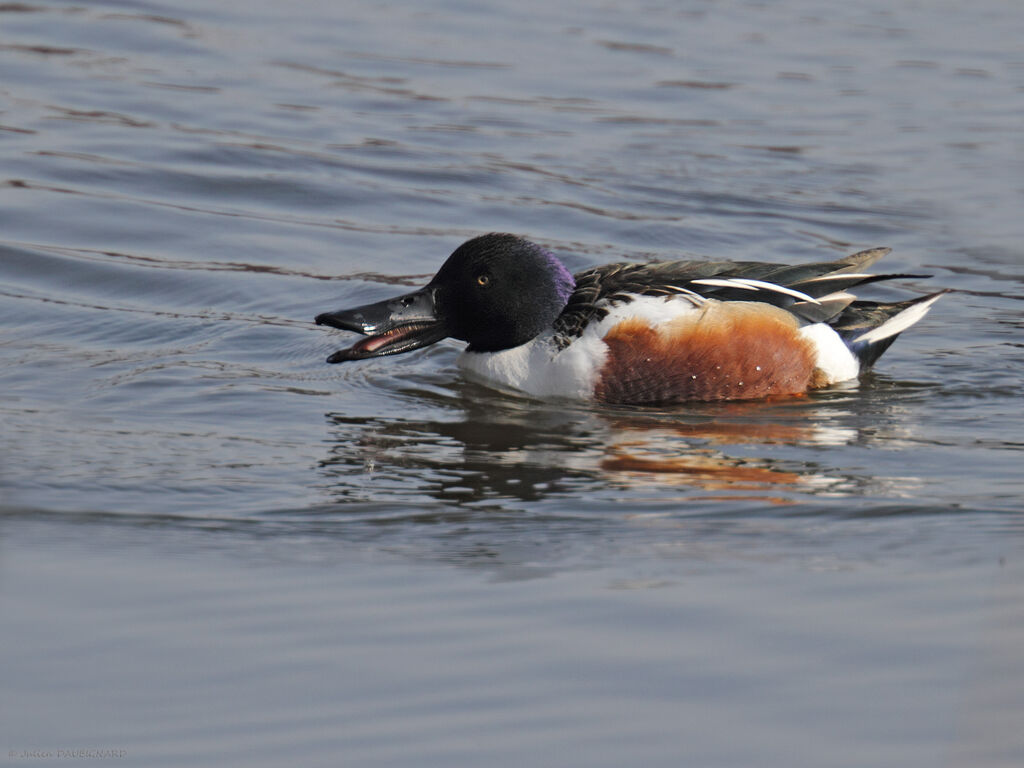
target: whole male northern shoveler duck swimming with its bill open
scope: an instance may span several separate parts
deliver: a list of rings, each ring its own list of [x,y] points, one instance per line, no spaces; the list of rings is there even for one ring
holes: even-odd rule
[[[800,394],[856,379],[944,293],[882,304],[850,289],[888,248],[839,261],[617,263],[571,274],[514,234],[464,243],[424,288],[325,312],[367,338],[344,362],[469,342],[476,378],[541,397],[671,403]]]

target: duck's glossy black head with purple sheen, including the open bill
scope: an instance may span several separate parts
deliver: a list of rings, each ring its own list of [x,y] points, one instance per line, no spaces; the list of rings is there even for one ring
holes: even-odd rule
[[[525,344],[551,327],[574,287],[551,253],[514,234],[463,243],[437,274],[413,293],[375,304],[324,312],[316,324],[366,338],[328,362],[398,354],[452,337],[494,352]]]

